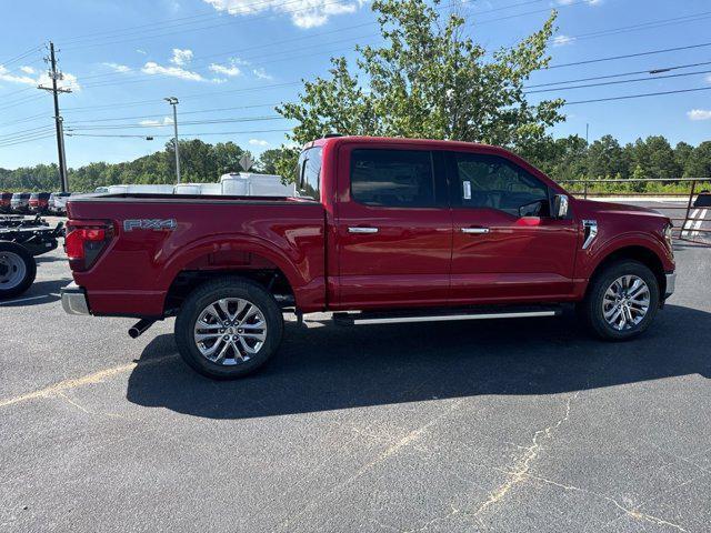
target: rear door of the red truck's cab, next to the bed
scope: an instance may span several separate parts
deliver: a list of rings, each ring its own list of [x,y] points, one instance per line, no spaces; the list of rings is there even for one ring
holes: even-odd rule
[[[447,302],[452,219],[443,152],[346,143],[338,152],[334,309]]]

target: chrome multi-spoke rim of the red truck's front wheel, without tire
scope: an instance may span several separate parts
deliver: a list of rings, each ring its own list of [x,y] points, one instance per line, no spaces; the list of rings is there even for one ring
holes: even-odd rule
[[[649,311],[650,292],[644,280],[623,275],[612,282],[602,299],[604,320],[618,331],[639,324]]]

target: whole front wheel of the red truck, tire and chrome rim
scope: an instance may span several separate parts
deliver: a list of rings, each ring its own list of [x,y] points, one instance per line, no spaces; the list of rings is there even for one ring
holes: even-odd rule
[[[659,283],[638,261],[607,266],[590,282],[581,311],[588,326],[609,341],[625,341],[643,333],[659,309]]]

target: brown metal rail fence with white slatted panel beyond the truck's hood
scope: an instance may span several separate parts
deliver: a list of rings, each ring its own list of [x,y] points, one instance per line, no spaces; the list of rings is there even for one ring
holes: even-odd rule
[[[635,192],[635,191],[617,191],[617,192],[598,192],[594,191],[594,188],[591,188],[594,183],[688,183],[689,191],[688,192]],[[647,178],[647,179],[629,179],[629,180],[604,180],[604,179],[594,179],[594,180],[561,180],[561,184],[575,183],[581,184],[581,190],[570,190],[572,194],[582,195],[584,199],[591,197],[605,198],[605,197],[630,197],[630,198],[644,198],[644,197],[654,197],[654,198],[669,198],[670,200],[680,200],[688,199],[685,205],[677,207],[677,205],[664,205],[664,210],[668,211],[680,211],[679,217],[670,217],[671,221],[674,223],[674,232],[677,239],[694,242],[698,244],[711,245],[709,241],[698,241],[693,240],[694,237],[705,237],[711,233],[711,229],[702,228],[704,222],[711,222],[711,205],[708,207],[698,207],[694,208],[694,197],[698,198],[698,193],[703,189],[701,185],[707,184],[708,190],[711,192],[711,178],[677,178],[677,179],[658,179],[658,178]],[[711,195],[710,195],[711,198]],[[681,217],[681,212],[683,212],[683,217]],[[677,222],[681,222],[681,224],[677,224]]]

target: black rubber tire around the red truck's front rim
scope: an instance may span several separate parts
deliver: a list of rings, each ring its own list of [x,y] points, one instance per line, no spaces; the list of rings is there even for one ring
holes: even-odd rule
[[[618,330],[604,319],[603,298],[605,291],[621,276],[635,275],[649,288],[649,306],[644,318],[629,329]],[[642,334],[650,326],[659,309],[659,282],[654,273],[639,261],[623,260],[605,266],[590,281],[585,299],[579,311],[589,330],[605,341],[628,341]]]

